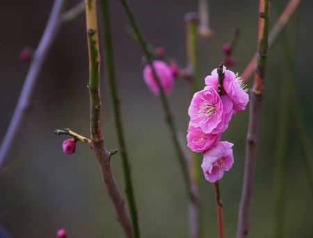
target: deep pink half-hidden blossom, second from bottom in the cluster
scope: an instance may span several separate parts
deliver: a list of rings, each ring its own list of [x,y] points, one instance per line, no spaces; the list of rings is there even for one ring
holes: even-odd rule
[[[187,141],[188,147],[194,152],[204,152],[220,140],[219,134],[205,134],[200,127],[193,127],[189,124]]]

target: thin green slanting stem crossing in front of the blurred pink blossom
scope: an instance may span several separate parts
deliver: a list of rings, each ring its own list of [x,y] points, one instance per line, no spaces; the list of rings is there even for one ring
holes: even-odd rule
[[[177,151],[177,154],[178,154],[179,164],[182,167],[182,172],[183,172],[183,176],[184,176],[184,183],[185,183],[186,189],[188,191],[189,197],[193,200],[195,198],[194,198],[193,191],[191,190],[191,187],[189,184],[189,171],[188,171],[188,166],[186,164],[186,158],[185,158],[184,153],[182,152],[182,148],[179,145],[179,141],[177,138],[177,131],[175,128],[175,123],[172,120],[172,115],[170,113],[170,106],[168,105],[168,100],[166,99],[166,95],[163,92],[163,88],[161,86],[159,77],[157,76],[157,73],[156,73],[156,71],[152,65],[152,56],[150,54],[150,51],[147,48],[147,43],[145,42],[143,35],[141,35],[141,32],[139,31],[138,24],[136,22],[136,19],[134,18],[134,14],[131,11],[131,8],[129,6],[128,1],[127,0],[120,0],[120,2],[122,3],[122,6],[124,7],[124,9],[127,13],[127,16],[129,17],[129,21],[131,22],[131,26],[134,28],[134,31],[137,35],[138,42],[143,49],[143,53],[145,54],[145,57],[147,58],[147,63],[152,68],[152,74],[154,76],[154,79],[156,79],[157,84],[159,86],[161,102],[162,102],[163,109],[164,109],[165,114],[166,114],[168,126],[170,127],[170,132],[172,134],[172,140],[174,142],[175,150]]]

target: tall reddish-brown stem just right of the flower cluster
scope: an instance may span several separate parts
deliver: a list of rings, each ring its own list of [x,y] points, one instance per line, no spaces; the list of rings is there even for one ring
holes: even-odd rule
[[[250,111],[248,134],[246,138],[246,162],[243,175],[243,188],[239,205],[239,220],[236,237],[247,237],[250,230],[250,206],[253,196],[255,180],[255,161],[257,155],[257,138],[259,130],[259,117],[261,114],[262,95],[264,90],[264,74],[268,50],[268,17],[270,1],[259,1],[259,36],[257,47],[257,64],[255,79],[250,95]]]

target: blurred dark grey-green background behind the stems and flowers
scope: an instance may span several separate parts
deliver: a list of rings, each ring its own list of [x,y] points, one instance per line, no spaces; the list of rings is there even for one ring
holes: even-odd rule
[[[68,1],[67,8],[77,2]],[[0,138],[6,133],[29,69],[29,63],[19,60],[19,53],[23,47],[37,47],[52,3],[1,1]],[[197,11],[197,1],[130,3],[147,40],[153,45],[163,46],[168,55],[184,67],[184,14]],[[275,3],[272,3],[271,26],[278,18]],[[222,45],[230,42],[236,26],[240,27],[241,36],[234,51],[236,65],[232,70],[242,72],[257,47],[258,1],[224,0],[209,1],[209,4],[211,28],[216,34],[209,40],[199,40],[201,80],[222,61]],[[141,48],[124,33],[129,22],[122,7],[118,1],[110,1],[110,5],[115,68],[142,237],[188,237],[186,191],[170,132],[163,120],[161,103],[143,83],[143,54]],[[312,9],[312,1],[303,1],[287,26],[287,36],[295,56],[293,68],[299,95],[296,107],[305,125],[310,155],[313,134]],[[35,86],[31,113],[24,120],[19,138],[10,152],[9,161],[24,157],[22,164],[0,181],[0,223],[12,237],[54,237],[59,228],[65,228],[68,237],[123,236],[90,148],[79,143],[77,152],[69,157],[62,150],[67,137],[53,133],[54,129],[70,127],[80,134],[89,134],[85,27],[85,17],[81,15],[58,33]],[[250,237],[268,237],[271,234],[280,92],[289,72],[284,54],[286,50],[278,40],[268,55]],[[104,60],[101,82],[103,129],[106,148],[111,149],[118,145],[103,63]],[[184,80],[177,79],[169,100],[177,128],[184,138],[189,104]],[[233,116],[222,138],[234,143],[235,158],[232,170],[220,181],[225,203],[225,237],[234,237],[236,232],[247,123],[248,109]],[[283,234],[284,237],[312,237],[312,193],[305,179],[294,125],[290,129]],[[312,166],[312,159],[310,162]],[[112,164],[122,189],[118,154],[113,157]],[[203,178],[201,190],[203,235],[217,237],[213,186]]]

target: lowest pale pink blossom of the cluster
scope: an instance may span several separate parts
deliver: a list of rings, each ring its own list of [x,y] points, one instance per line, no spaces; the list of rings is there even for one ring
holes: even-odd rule
[[[232,145],[228,141],[218,141],[214,147],[204,152],[201,168],[209,182],[220,180],[224,171],[230,170],[234,164]]]

